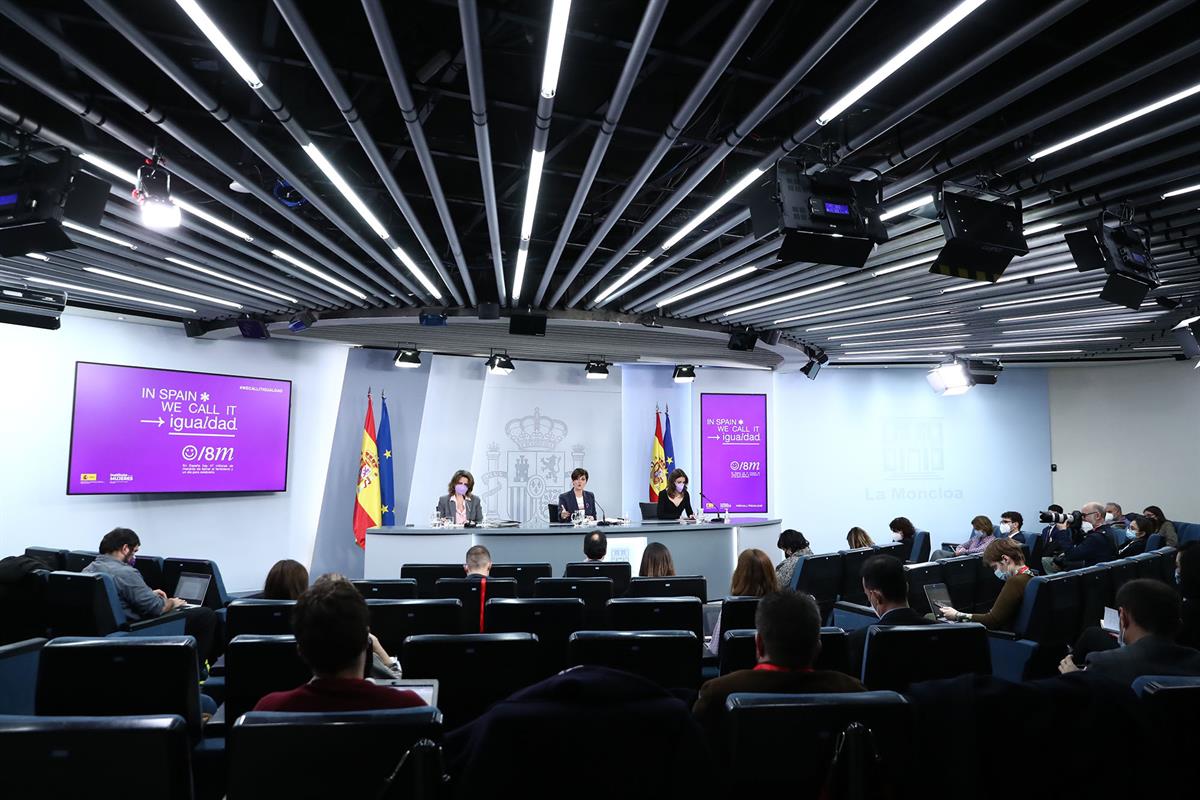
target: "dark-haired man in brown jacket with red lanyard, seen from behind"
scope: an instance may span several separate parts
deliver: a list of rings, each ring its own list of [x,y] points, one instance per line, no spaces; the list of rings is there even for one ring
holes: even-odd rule
[[[863,685],[840,672],[812,669],[821,651],[821,612],[811,595],[772,591],[755,613],[754,669],[738,669],[700,687],[692,706],[696,720],[709,733],[720,729],[725,698],[733,692],[862,692]]]

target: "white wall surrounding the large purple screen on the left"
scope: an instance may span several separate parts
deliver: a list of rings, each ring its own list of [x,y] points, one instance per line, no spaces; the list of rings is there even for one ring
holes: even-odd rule
[[[308,563],[346,353],[335,344],[190,339],[179,325],[74,314],[58,331],[0,325],[0,554],[30,545],[94,551],[122,525],[138,531],[148,554],[216,560],[230,590],[260,587],[277,559]],[[67,497],[76,361],[290,379],[288,491]]]

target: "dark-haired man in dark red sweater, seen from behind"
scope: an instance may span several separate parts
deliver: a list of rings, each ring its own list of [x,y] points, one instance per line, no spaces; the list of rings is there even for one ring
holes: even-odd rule
[[[378,686],[362,678],[370,615],[362,595],[340,575],[323,575],[296,601],[292,630],[296,650],[312,669],[304,686],[272,692],[256,711],[368,711],[425,705],[410,691]]]

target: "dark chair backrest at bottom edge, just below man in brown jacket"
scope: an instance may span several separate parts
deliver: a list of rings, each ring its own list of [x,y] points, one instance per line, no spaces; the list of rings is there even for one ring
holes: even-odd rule
[[[863,763],[875,764],[895,796],[912,796],[905,781],[912,770],[913,715],[901,694],[734,693],[725,708],[727,769],[738,776],[744,796],[772,789],[793,798],[818,796],[841,733],[854,722],[870,730],[878,753],[878,762],[865,758]],[[787,769],[768,769],[770,764]]]

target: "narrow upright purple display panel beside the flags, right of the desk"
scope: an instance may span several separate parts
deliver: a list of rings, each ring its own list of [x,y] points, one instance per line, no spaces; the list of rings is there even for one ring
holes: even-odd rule
[[[767,511],[767,396],[700,396],[700,488],[706,512]]]

